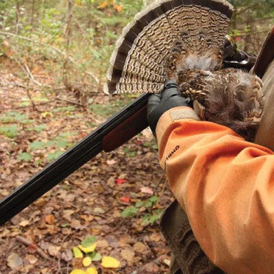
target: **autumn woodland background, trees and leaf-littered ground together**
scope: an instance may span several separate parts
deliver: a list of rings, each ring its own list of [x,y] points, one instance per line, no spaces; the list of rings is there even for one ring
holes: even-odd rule
[[[108,97],[102,86],[121,29],[150,2],[0,0],[0,199],[136,97]],[[258,53],[274,1],[230,2],[229,34]],[[81,254],[98,273],[166,273],[158,224],[172,199],[145,129],[1,227],[0,273],[96,273]],[[73,253],[81,242],[97,246]],[[119,268],[103,267],[102,256]]]

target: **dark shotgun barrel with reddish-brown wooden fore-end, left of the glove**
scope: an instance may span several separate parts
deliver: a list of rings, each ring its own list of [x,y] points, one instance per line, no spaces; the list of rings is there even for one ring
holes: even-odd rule
[[[147,101],[144,94],[100,125],[94,132],[47,165],[29,181],[0,201],[0,225],[12,219],[45,192],[95,157],[112,151],[148,126]]]

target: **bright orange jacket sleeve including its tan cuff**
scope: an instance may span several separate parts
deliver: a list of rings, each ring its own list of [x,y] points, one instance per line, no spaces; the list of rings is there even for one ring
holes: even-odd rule
[[[228,127],[183,119],[178,113],[186,109],[165,112],[156,128],[173,195],[216,266],[273,274],[274,153]]]

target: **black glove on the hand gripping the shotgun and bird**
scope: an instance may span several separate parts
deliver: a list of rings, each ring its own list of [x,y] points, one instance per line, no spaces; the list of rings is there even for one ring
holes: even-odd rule
[[[160,116],[171,108],[188,106],[188,100],[184,98],[178,90],[174,80],[169,80],[164,84],[164,92],[151,95],[147,102],[147,121],[155,136],[155,128]]]

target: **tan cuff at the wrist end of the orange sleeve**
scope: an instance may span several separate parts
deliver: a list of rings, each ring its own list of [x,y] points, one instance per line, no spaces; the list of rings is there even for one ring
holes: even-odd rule
[[[162,116],[160,117],[158,124],[156,126],[156,136],[160,137],[162,134],[164,134],[164,131],[166,127],[171,125],[171,123],[174,123],[176,121],[182,120],[182,119],[188,119],[188,120],[196,120],[200,121],[199,116],[193,110],[189,107],[177,107],[177,108],[171,108],[170,110],[164,112]]]

